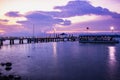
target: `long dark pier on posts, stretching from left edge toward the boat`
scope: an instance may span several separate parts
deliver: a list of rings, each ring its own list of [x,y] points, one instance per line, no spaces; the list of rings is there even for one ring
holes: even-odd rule
[[[8,40],[10,45],[15,44],[15,40],[19,41],[19,44],[27,43],[39,43],[39,42],[59,42],[59,41],[77,41],[78,37],[1,37],[0,46],[4,45],[4,42]]]

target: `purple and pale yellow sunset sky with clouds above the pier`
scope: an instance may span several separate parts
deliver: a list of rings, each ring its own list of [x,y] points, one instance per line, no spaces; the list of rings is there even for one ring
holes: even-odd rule
[[[0,0],[0,35],[120,31],[120,0]]]

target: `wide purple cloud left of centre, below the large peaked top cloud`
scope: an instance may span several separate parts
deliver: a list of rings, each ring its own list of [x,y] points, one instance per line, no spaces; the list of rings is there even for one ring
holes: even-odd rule
[[[51,27],[55,24],[60,24],[60,25],[71,24],[69,20],[55,18],[55,17],[52,17],[51,15],[48,15],[46,13],[41,13],[39,11],[29,12],[24,17],[27,18],[27,21],[18,21],[17,23],[21,23],[24,25],[36,24],[36,25],[39,25],[39,27],[46,27],[46,26]]]

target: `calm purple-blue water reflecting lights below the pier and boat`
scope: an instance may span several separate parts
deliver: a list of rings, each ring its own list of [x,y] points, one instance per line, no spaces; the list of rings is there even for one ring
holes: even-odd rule
[[[50,42],[4,45],[0,62],[10,61],[5,74],[23,80],[120,80],[120,44]]]

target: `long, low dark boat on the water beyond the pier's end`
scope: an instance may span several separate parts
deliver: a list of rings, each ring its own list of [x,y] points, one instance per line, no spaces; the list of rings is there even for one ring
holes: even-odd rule
[[[119,43],[119,40],[115,39],[119,35],[113,34],[81,34],[79,35],[80,43]]]

